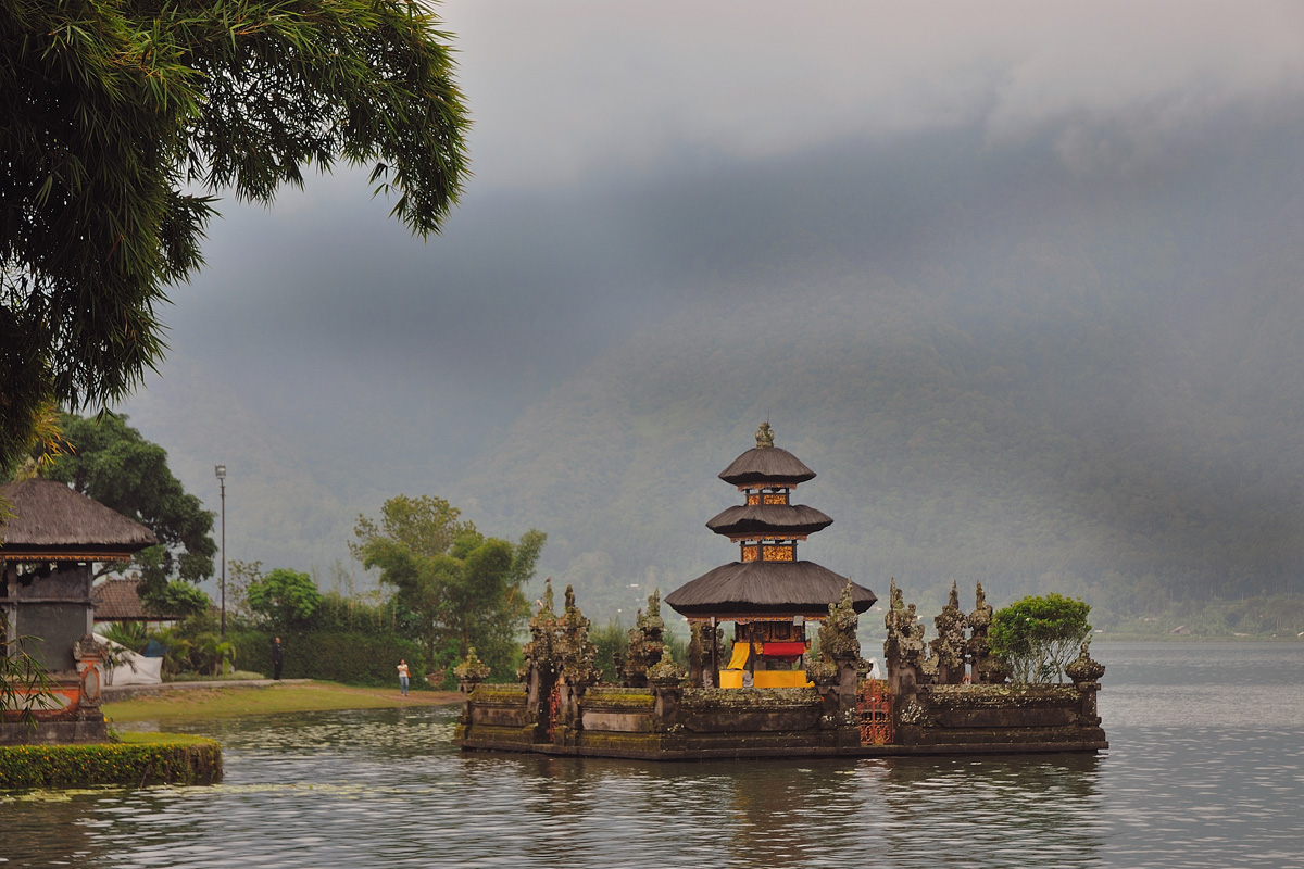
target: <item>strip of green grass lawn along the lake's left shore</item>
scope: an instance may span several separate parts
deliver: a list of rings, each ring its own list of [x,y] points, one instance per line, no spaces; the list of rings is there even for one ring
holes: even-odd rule
[[[396,706],[436,706],[456,702],[454,692],[413,691],[407,697],[398,688],[349,688],[331,681],[273,684],[258,688],[196,688],[150,697],[104,704],[104,717],[115,724],[150,720],[271,713],[308,713],[333,709],[390,709]]]

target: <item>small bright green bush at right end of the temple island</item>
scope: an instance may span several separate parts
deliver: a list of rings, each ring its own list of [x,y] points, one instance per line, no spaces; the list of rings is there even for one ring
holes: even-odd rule
[[[1091,634],[1091,607],[1061,594],[1026,597],[996,612],[987,640],[1020,683],[1064,681],[1064,667]]]

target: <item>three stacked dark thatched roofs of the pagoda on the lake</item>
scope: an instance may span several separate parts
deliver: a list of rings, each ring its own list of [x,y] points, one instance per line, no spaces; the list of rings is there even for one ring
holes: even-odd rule
[[[764,423],[756,446],[734,459],[720,473],[738,487],[743,503],[722,511],[707,522],[716,534],[739,546],[739,560],[722,564],[666,595],[675,612],[690,619],[748,620],[773,618],[823,618],[836,602],[846,577],[797,559],[797,542],[833,524],[825,513],[793,504],[798,483],[815,478],[797,456],[775,446]],[[852,584],[852,605],[865,612],[875,602],[874,591]]]

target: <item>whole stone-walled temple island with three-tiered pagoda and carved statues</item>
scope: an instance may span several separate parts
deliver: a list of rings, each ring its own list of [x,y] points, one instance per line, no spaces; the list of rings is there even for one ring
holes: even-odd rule
[[[855,629],[874,591],[797,558],[798,542],[833,522],[793,503],[815,472],[776,447],[764,423],[756,446],[720,478],[743,503],[707,526],[739,547],[739,560],[665,599],[691,628],[689,671],[670,659],[653,593],[630,631],[623,683],[601,684],[574,591],[566,589],[558,615],[548,584],[529,620],[520,683],[485,683],[475,650],[456,668],[456,745],[668,761],[1108,748],[1097,714],[1104,667],[1084,645],[1065,668],[1071,683],[1007,683],[988,651],[992,607],[981,584],[968,614],[952,586],[934,619],[936,638],[925,641],[914,605],[893,581],[885,679],[871,679]]]

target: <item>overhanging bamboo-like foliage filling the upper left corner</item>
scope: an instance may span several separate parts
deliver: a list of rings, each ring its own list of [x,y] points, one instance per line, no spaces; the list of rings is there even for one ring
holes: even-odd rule
[[[158,363],[213,194],[343,159],[438,232],[467,175],[449,40],[412,0],[0,0],[0,469],[44,400]]]

